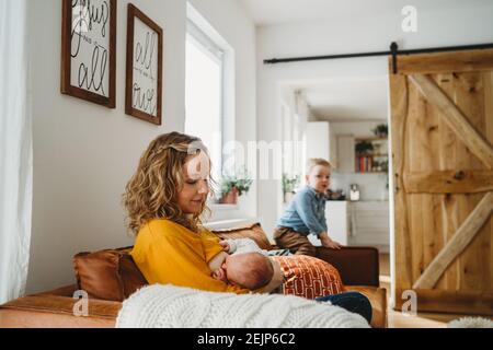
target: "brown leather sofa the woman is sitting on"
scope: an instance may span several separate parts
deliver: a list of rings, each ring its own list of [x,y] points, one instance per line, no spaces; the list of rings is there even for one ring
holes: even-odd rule
[[[259,231],[262,231],[260,224],[254,224],[215,232],[228,237],[250,236],[259,243]],[[379,288],[378,250],[372,247],[343,247],[341,250],[318,247],[317,255],[339,270],[346,290],[368,296],[374,308],[371,326],[387,327],[387,295],[386,290]],[[0,328],[114,327],[122,302],[90,295],[88,315],[76,316],[73,308],[78,299],[73,298],[73,292],[79,288],[78,284],[67,285],[0,305]]]

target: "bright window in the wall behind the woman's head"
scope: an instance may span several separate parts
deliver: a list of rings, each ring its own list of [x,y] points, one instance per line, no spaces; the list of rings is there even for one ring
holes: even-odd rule
[[[222,173],[225,51],[194,22],[187,21],[185,133],[209,149],[213,177]]]

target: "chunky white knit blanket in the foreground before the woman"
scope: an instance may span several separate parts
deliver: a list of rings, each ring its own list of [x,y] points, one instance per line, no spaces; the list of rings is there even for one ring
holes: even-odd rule
[[[368,328],[360,315],[293,295],[234,294],[152,284],[130,295],[117,328]]]

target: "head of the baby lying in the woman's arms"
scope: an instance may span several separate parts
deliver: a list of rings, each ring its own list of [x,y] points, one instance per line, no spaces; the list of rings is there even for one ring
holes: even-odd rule
[[[230,255],[223,267],[230,282],[252,291],[265,287],[274,276],[271,259],[260,253]]]

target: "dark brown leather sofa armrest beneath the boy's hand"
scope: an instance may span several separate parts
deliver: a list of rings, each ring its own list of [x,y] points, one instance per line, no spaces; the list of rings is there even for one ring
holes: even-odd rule
[[[345,285],[380,285],[379,256],[375,247],[317,247],[317,257],[334,266]]]

